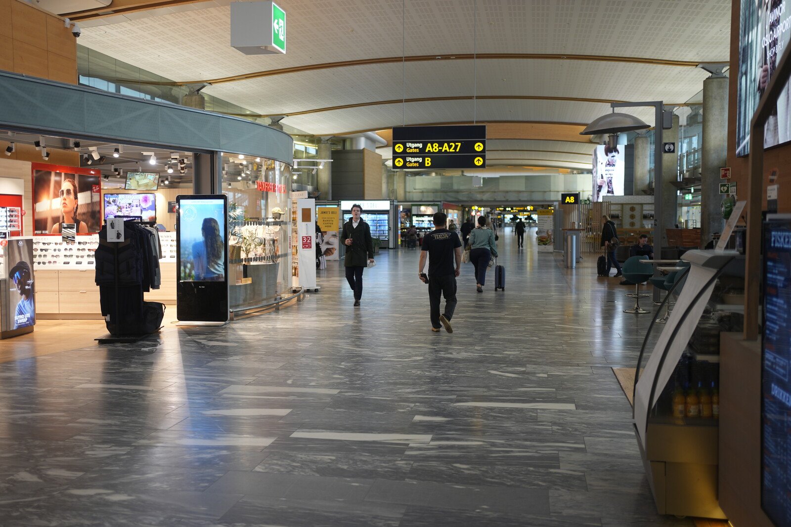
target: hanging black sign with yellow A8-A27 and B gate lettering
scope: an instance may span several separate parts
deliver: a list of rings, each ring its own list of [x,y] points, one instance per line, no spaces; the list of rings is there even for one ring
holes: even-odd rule
[[[486,126],[393,128],[393,167],[484,168],[486,167]]]

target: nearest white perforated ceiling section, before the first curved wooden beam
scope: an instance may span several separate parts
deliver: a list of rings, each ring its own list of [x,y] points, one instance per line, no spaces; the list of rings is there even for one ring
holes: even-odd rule
[[[220,3],[204,4],[213,6]],[[730,0],[410,0],[407,55],[564,53],[727,61]],[[174,80],[402,54],[402,2],[290,0],[286,55],[230,47],[230,8],[85,27],[81,42]],[[108,19],[109,21],[109,19]]]

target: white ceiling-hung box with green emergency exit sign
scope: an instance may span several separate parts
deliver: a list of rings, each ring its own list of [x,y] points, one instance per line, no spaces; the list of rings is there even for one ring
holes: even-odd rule
[[[274,2],[231,3],[231,46],[244,55],[286,53],[286,11]]]

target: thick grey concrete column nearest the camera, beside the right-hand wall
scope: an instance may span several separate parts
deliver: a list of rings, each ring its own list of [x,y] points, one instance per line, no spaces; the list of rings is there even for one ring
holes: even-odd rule
[[[728,77],[703,81],[703,137],[701,187],[701,243],[722,232],[720,168],[728,165]]]

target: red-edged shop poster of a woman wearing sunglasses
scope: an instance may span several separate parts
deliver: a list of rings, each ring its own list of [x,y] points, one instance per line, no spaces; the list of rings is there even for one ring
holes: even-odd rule
[[[32,172],[35,234],[60,234],[61,224],[75,224],[78,234],[99,232],[99,171],[33,163]]]

